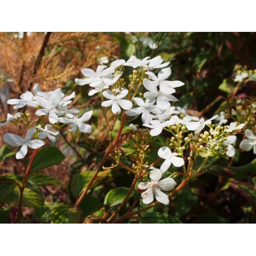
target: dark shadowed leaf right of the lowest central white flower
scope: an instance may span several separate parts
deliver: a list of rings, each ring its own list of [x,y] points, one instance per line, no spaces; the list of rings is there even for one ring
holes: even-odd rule
[[[175,205],[175,216],[183,217],[197,204],[198,198],[190,188],[186,187],[178,193]]]

